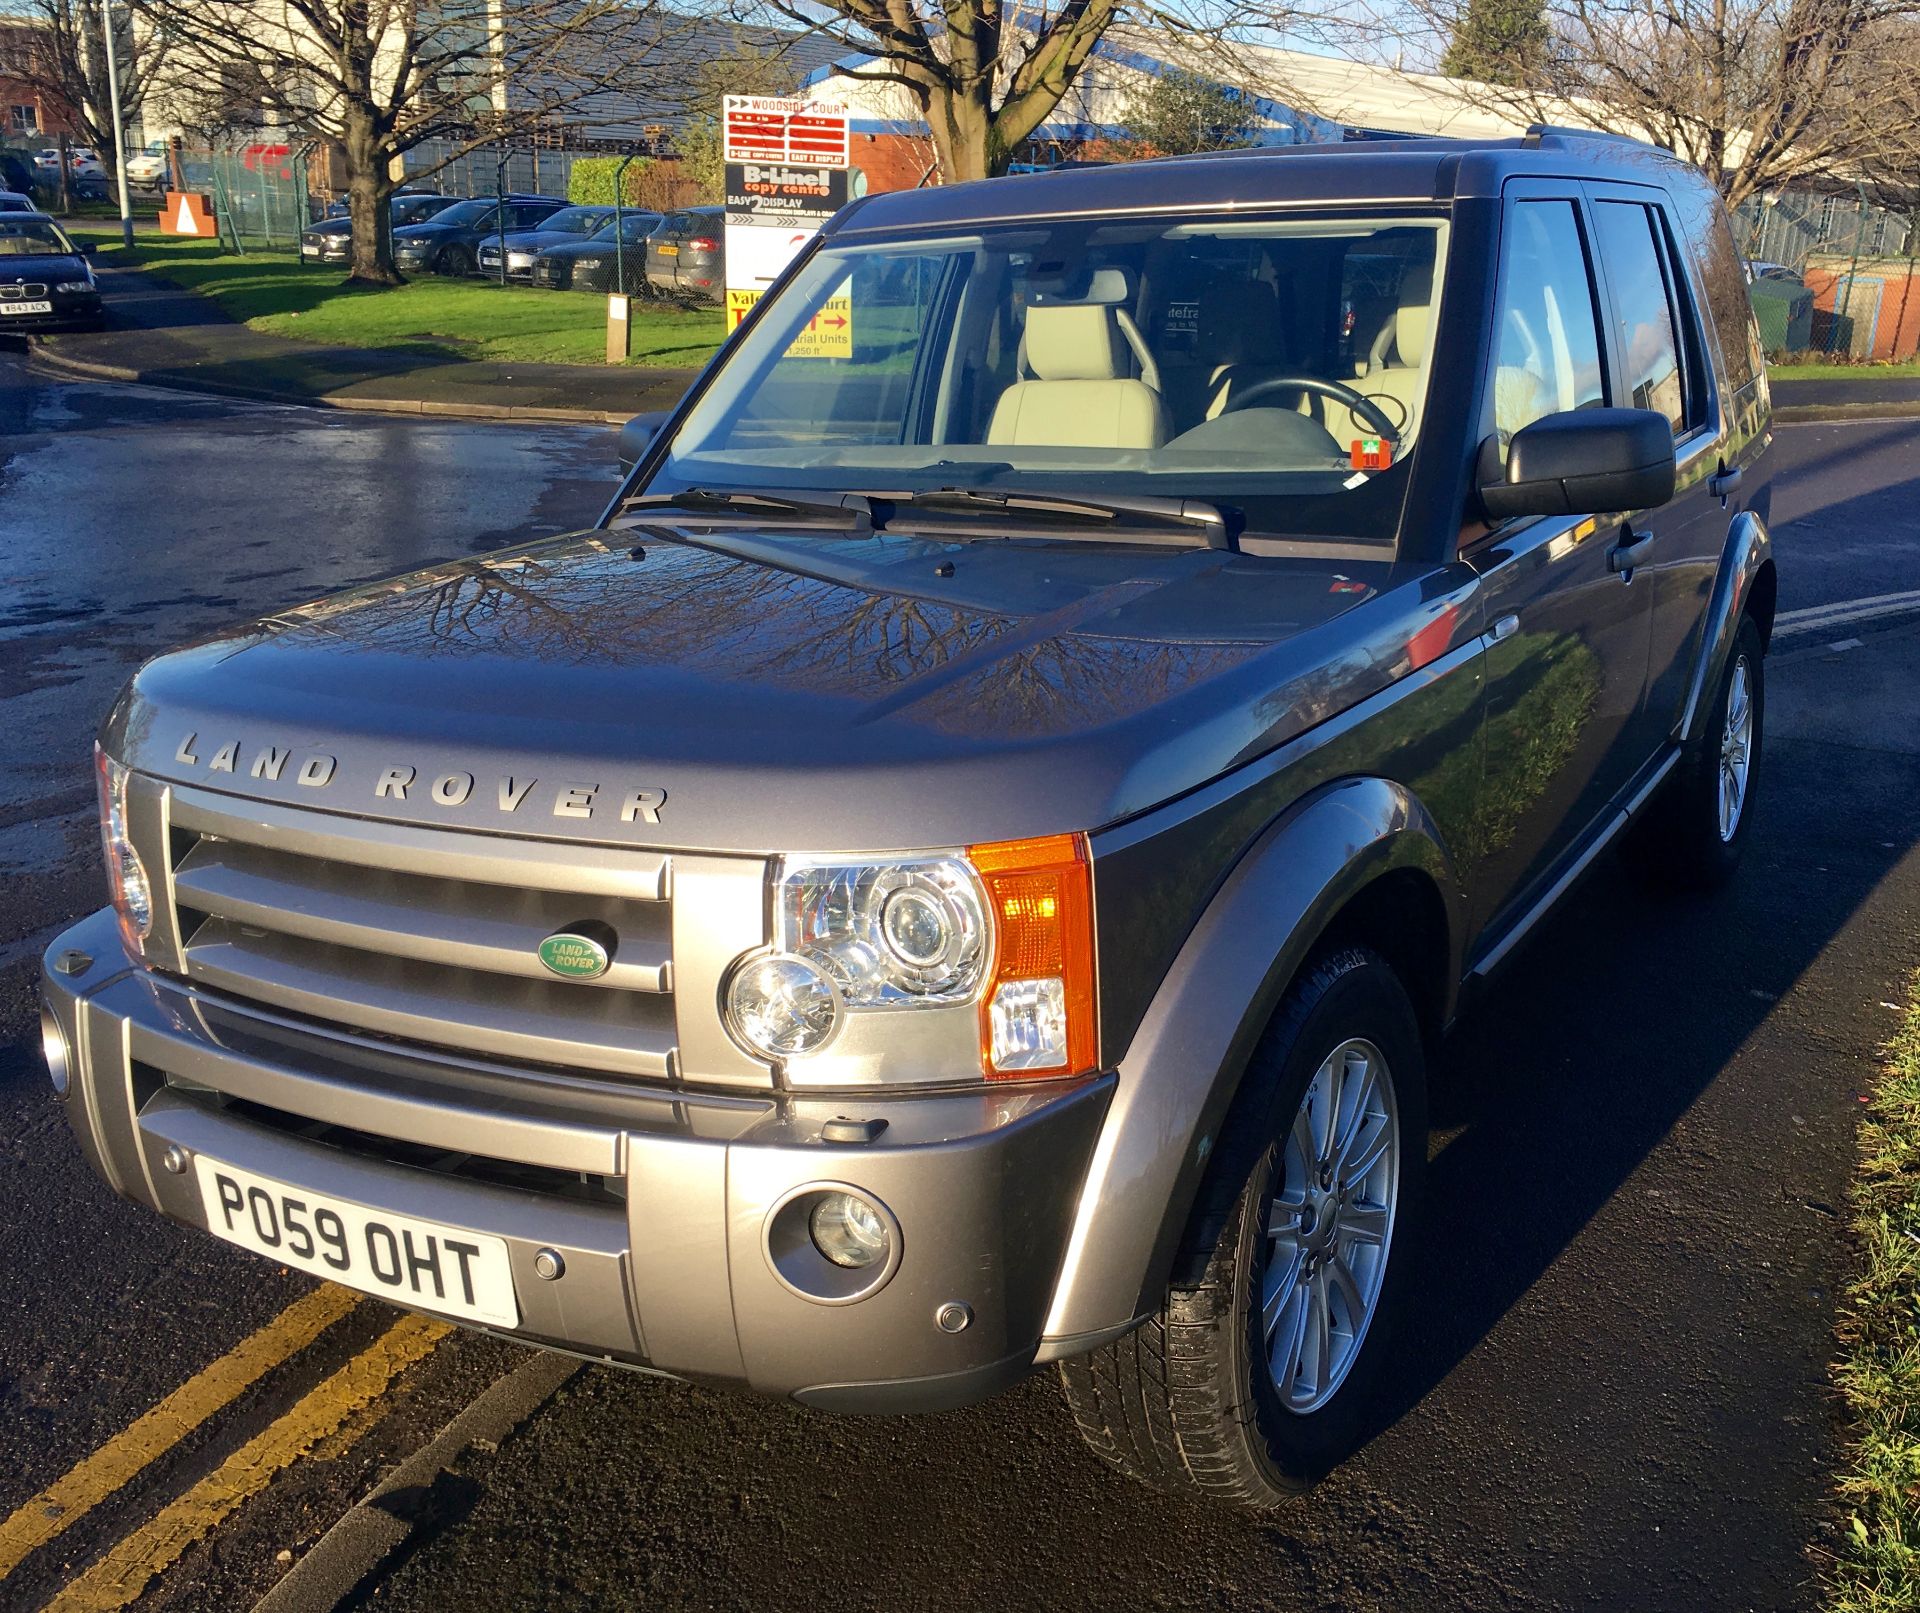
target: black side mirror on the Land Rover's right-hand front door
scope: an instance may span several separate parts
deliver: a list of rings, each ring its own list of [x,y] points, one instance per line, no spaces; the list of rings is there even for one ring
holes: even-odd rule
[[[1515,515],[1655,509],[1674,495],[1674,432],[1653,409],[1569,409],[1523,426],[1500,465],[1500,438],[1480,444],[1480,505]]]

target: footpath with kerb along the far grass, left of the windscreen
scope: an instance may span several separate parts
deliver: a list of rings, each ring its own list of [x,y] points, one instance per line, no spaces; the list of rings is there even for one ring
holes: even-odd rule
[[[620,424],[668,409],[699,371],[647,365],[434,361],[378,348],[290,342],[136,269],[98,265],[109,325],[40,336],[35,363],[86,380],[330,409],[478,421]]]

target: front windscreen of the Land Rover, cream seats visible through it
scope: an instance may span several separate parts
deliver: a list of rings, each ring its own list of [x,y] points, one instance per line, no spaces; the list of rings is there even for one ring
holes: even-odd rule
[[[1390,542],[1438,215],[1062,219],[826,246],[653,490],[1150,495]]]

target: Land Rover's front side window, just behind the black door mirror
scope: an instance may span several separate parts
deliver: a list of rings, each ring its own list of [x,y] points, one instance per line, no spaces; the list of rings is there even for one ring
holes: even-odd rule
[[[1500,436],[1505,457],[1517,430],[1565,409],[1596,409],[1607,401],[1607,386],[1572,202],[1515,202],[1500,252],[1486,432]]]

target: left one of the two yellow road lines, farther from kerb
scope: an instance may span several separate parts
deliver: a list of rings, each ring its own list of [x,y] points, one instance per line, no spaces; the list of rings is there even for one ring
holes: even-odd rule
[[[165,1456],[238,1394],[259,1383],[280,1361],[305,1350],[359,1304],[359,1294],[328,1283],[294,1300],[257,1333],[242,1338],[213,1365],[194,1373],[152,1411],[142,1413],[84,1461],[48,1484],[38,1496],[0,1523],[0,1580],[29,1552],[44,1546],[79,1521],[142,1467]]]

